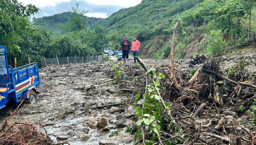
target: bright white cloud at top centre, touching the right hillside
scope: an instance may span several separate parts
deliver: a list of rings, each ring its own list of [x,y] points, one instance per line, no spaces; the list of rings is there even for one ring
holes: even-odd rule
[[[91,4],[115,5],[122,7],[133,7],[141,2],[141,0],[85,0]]]

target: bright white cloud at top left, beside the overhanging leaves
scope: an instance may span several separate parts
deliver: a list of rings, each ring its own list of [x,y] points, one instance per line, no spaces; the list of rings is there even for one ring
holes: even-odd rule
[[[18,2],[22,2],[25,5],[34,4],[36,7],[45,7],[45,6],[55,6],[56,3],[60,2],[68,2],[70,0],[18,0]]]

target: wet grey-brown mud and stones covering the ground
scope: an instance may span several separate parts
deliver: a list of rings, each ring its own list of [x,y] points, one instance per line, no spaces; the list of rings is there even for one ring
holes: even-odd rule
[[[254,73],[256,72],[255,58],[255,56],[245,58],[249,62],[246,69]],[[219,58],[220,67],[224,70],[237,64],[241,59]],[[143,60],[153,67],[170,65],[170,60]],[[175,60],[175,69],[189,72],[191,67],[200,65],[200,63],[190,65],[190,61],[191,59]],[[128,64],[122,65],[126,68],[136,68],[139,64],[133,64],[131,60]],[[118,85],[111,82],[103,83],[112,79],[108,77],[109,71],[110,67],[106,62],[41,68],[39,93],[52,95],[57,99],[47,96],[38,97],[35,104],[26,105],[19,114],[32,123],[42,123],[48,135],[56,143],[67,141],[74,145],[134,144],[136,139],[133,139],[133,135],[125,133],[125,129],[122,129],[134,122],[130,117],[134,112],[120,114],[134,109],[134,106],[129,104],[132,105],[135,94],[132,94],[132,91],[120,90]],[[65,83],[59,84],[58,81]],[[93,108],[101,105],[103,106]],[[100,117],[106,120],[117,118],[108,121],[106,127],[99,128],[100,125],[97,123]],[[118,135],[109,138],[109,135],[115,131],[119,131]]]

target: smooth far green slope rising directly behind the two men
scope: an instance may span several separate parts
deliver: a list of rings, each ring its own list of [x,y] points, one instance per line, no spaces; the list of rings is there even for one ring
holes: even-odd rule
[[[167,35],[164,29],[171,25],[170,17],[193,8],[203,0],[142,0],[135,7],[121,9],[96,23],[108,27],[111,46],[119,48],[120,39],[128,35],[146,41],[158,35]]]

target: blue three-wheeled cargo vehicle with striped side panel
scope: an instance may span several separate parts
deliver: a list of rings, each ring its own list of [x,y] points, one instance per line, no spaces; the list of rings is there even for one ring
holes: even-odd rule
[[[0,109],[8,101],[16,103],[24,96],[27,104],[36,102],[37,87],[40,84],[38,65],[34,62],[18,68],[12,68],[7,63],[7,48],[0,46]],[[26,94],[32,92],[34,94]]]

